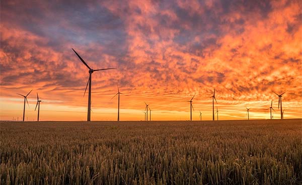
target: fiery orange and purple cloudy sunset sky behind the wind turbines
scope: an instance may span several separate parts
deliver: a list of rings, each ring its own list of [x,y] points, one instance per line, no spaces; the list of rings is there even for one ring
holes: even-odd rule
[[[299,1],[1,1],[0,119],[92,120],[302,117]],[[216,119],[215,115],[215,119]]]

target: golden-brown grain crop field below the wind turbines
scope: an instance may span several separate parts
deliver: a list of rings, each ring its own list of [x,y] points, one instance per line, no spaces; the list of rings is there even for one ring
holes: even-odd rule
[[[1,122],[0,184],[301,184],[302,120]]]

